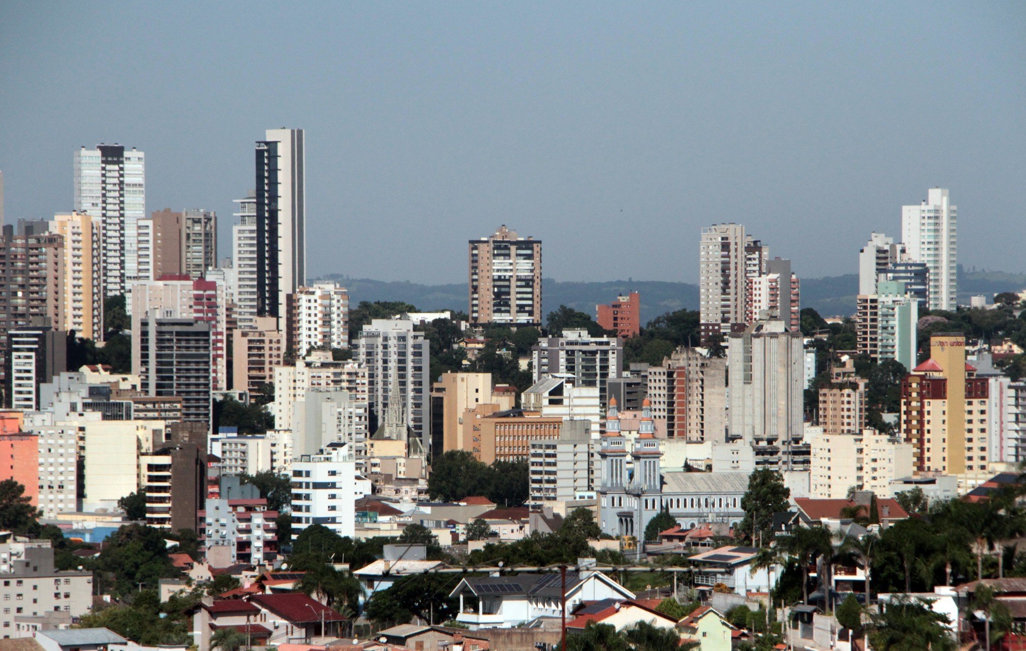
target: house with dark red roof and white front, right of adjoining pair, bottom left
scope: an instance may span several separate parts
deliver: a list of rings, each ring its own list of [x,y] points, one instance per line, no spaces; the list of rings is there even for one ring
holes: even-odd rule
[[[273,630],[269,645],[338,638],[346,622],[344,615],[303,593],[253,595],[248,602],[261,610],[255,622]]]

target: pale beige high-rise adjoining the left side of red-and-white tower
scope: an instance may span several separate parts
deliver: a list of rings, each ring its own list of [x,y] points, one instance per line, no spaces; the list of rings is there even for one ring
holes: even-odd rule
[[[746,244],[751,244],[751,251],[746,251]],[[746,239],[744,226],[722,223],[702,229],[699,311],[703,341],[744,329],[745,280],[749,275],[761,275],[765,255],[763,247]]]

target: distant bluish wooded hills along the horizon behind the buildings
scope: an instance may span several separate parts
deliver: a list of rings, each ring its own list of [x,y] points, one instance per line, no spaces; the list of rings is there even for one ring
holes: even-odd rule
[[[385,282],[366,278],[348,278],[329,274],[325,280],[334,280],[349,289],[353,304],[361,300],[401,300],[420,310],[467,311],[467,284],[422,285],[410,282]],[[1026,289],[1026,274],[1003,272],[966,272],[959,269],[958,302],[969,303],[974,294],[988,296],[1002,291]],[[641,320],[647,323],[665,312],[698,310],[699,288],[692,283],[664,281],[614,280],[597,283],[562,282],[546,278],[542,281],[542,312],[549,314],[559,306],[595,314],[595,306],[613,300],[618,293],[631,290],[641,294]],[[828,278],[801,279],[801,307],[814,308],[824,316],[855,314],[855,299],[859,291],[859,276],[846,274]]]

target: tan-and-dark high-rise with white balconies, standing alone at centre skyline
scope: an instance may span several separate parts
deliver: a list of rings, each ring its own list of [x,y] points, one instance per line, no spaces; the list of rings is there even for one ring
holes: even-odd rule
[[[542,323],[542,241],[506,225],[470,241],[470,322]]]

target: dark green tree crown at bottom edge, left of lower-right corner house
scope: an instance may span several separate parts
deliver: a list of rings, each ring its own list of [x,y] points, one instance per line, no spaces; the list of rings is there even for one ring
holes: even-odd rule
[[[872,616],[869,644],[875,651],[954,651],[958,644],[948,623],[921,600],[891,601]]]

